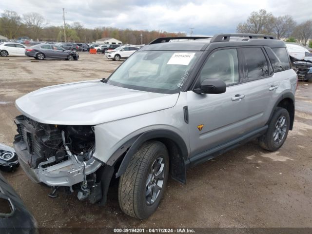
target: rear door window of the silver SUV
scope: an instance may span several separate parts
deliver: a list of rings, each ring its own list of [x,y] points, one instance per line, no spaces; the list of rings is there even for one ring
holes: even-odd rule
[[[242,48],[248,80],[265,78],[270,75],[268,61],[261,48]]]

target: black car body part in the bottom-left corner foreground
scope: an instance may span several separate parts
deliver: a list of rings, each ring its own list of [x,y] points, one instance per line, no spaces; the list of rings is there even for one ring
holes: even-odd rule
[[[0,174],[0,233],[37,234],[37,221]]]

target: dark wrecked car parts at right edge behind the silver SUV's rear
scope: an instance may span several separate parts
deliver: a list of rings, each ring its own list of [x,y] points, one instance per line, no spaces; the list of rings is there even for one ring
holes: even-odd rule
[[[312,82],[312,61],[305,59],[295,59],[290,56],[292,69],[297,73],[299,80]]]

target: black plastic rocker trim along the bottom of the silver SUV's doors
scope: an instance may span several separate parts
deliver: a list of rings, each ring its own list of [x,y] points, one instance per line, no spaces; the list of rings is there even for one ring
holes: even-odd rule
[[[229,142],[226,142],[222,145],[216,146],[212,149],[209,149],[207,151],[204,151],[202,153],[199,153],[195,156],[192,156],[191,158],[189,158],[186,162],[185,162],[185,166],[186,168],[190,168],[193,167],[195,165],[197,165],[198,163],[201,162],[205,162],[208,161],[210,159],[213,159],[216,156],[219,156],[229,150],[232,150],[244,143],[247,143],[248,141],[260,137],[263,134],[265,134],[265,132],[268,129],[268,125],[265,125],[259,129],[256,129],[252,132],[249,132],[241,137],[235,138],[234,140],[231,140]]]

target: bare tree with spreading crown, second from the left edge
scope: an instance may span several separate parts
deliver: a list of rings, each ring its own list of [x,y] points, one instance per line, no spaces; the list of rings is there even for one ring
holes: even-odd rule
[[[31,30],[31,36],[34,39],[38,39],[41,29],[48,24],[43,16],[36,12],[24,14],[23,20],[26,26]]]

